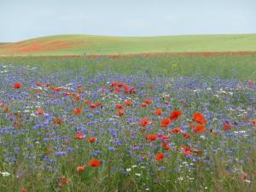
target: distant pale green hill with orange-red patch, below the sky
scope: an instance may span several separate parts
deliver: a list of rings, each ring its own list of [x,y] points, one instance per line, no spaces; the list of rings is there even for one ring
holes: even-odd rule
[[[163,37],[61,35],[0,44],[0,55],[121,55],[256,51],[256,34]]]

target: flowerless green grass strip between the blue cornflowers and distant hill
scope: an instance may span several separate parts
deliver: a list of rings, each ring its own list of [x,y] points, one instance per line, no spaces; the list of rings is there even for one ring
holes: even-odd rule
[[[49,73],[62,70],[86,68],[86,76],[113,71],[119,74],[132,74],[137,71],[158,75],[218,76],[224,79],[256,80],[256,54],[253,55],[161,55],[131,57],[90,58],[79,57],[0,57],[1,63],[43,67]]]

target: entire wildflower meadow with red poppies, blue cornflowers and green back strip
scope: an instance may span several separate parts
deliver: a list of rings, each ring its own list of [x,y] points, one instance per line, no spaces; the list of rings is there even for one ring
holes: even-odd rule
[[[256,190],[256,55],[0,58],[0,191]]]

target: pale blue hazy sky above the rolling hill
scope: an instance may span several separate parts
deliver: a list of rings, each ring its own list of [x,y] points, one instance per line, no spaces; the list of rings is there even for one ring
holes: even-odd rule
[[[220,33],[256,33],[256,0],[0,0],[0,42]]]

